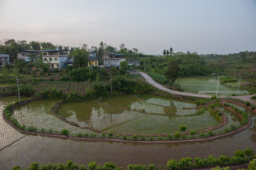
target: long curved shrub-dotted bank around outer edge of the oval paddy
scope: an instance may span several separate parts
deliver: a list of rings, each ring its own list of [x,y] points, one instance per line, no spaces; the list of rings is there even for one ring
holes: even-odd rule
[[[36,100],[42,99],[42,97],[37,97],[37,98],[33,98],[33,99],[28,99],[26,101],[23,102],[19,102],[17,104],[12,105],[9,110],[13,110],[18,106],[24,105],[28,102],[33,102]],[[59,138],[65,138],[65,139],[79,139],[79,140],[96,140],[96,141],[117,141],[117,142],[127,142],[127,143],[184,143],[184,142],[197,142],[197,141],[206,141],[206,140],[212,140],[212,139],[216,139],[216,138],[220,138],[223,136],[229,136],[232,134],[235,134],[237,132],[240,132],[244,129],[246,129],[247,127],[249,127],[251,125],[251,119],[250,117],[248,117],[248,122],[242,126],[239,127],[233,131],[230,131],[228,133],[224,133],[224,134],[220,134],[220,135],[215,135],[215,136],[211,136],[211,137],[206,137],[206,138],[197,138],[197,139],[185,139],[185,140],[161,140],[161,141],[128,141],[128,140],[123,140],[123,139],[115,139],[115,138],[89,138],[89,137],[78,137],[78,136],[65,136],[65,135],[60,135],[60,134],[51,134],[51,133],[43,133],[43,132],[31,132],[31,131],[25,131],[22,130],[18,127],[16,127],[9,119],[7,119],[6,115],[5,115],[5,110],[3,111],[3,118],[6,122],[8,122],[12,127],[14,127],[16,130],[18,130],[21,133],[24,134],[29,134],[29,135],[40,135],[40,136],[53,136],[53,137],[59,137]],[[118,135],[118,134],[116,134]],[[138,135],[140,136],[140,135]]]

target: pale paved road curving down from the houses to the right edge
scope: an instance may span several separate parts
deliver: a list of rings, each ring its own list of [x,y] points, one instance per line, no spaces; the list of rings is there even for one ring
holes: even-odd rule
[[[141,76],[146,80],[147,83],[151,84],[152,86],[158,88],[159,90],[162,90],[164,92],[168,92],[168,93],[171,93],[171,94],[178,94],[178,95],[185,95],[185,96],[194,96],[194,97],[202,97],[202,98],[211,98],[212,96],[211,95],[203,95],[203,94],[193,94],[193,93],[184,93],[184,92],[177,92],[177,91],[174,91],[174,90],[170,90],[162,85],[160,85],[159,83],[155,82],[152,77],[150,77],[149,75],[147,75],[146,73],[141,73]],[[243,96],[230,96],[231,98],[238,98],[238,99],[241,99],[243,101],[248,101],[248,102],[251,102],[253,104],[256,105],[256,101],[254,100],[251,100],[250,98],[252,96],[254,96],[255,94],[252,94],[252,95],[243,95]]]

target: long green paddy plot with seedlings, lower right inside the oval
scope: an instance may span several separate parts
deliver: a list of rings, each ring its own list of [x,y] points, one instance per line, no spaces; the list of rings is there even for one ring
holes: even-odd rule
[[[130,134],[167,134],[178,132],[180,125],[185,125],[187,127],[186,132],[189,132],[190,130],[213,127],[218,123],[218,120],[209,111],[205,111],[202,115],[190,117],[146,115],[107,129],[107,131]]]

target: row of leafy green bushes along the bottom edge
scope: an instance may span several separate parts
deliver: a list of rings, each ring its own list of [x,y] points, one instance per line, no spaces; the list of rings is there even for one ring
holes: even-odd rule
[[[242,155],[241,155],[242,154]],[[245,156],[246,155],[246,156]],[[167,170],[184,170],[188,168],[201,168],[206,166],[214,166],[214,165],[232,165],[232,164],[241,164],[247,161],[252,160],[255,157],[253,154],[253,151],[249,148],[246,148],[243,151],[236,151],[234,156],[231,158],[227,156],[220,156],[219,158],[214,158],[212,155],[209,155],[208,158],[200,159],[196,157],[194,160],[193,158],[182,158],[180,161],[177,161],[176,159],[172,159],[167,162],[167,165],[165,169]],[[250,161],[250,164],[248,165],[248,170],[255,170],[256,168],[256,161]],[[39,167],[38,162],[31,163],[31,165],[27,169],[21,169],[20,166],[16,165],[12,168],[12,170],[123,170],[123,167],[117,167],[115,163],[112,162],[105,162],[104,166],[97,165],[97,162],[90,161],[90,163],[87,165],[81,165],[79,166],[76,163],[73,163],[73,161],[67,161],[66,164],[53,164],[49,163],[47,165],[41,165]],[[162,170],[162,168],[159,166],[155,166],[154,164],[150,164],[149,166],[145,165],[128,165],[126,170]],[[212,170],[221,170],[219,167],[216,167]],[[223,170],[230,170],[229,168],[225,168]]]

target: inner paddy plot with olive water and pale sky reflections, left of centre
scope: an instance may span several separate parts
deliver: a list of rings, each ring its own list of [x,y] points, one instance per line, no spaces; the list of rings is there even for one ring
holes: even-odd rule
[[[140,112],[100,104],[97,99],[87,102],[65,103],[58,112],[62,117],[81,127],[93,127],[97,130],[116,126],[144,115]]]

